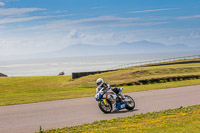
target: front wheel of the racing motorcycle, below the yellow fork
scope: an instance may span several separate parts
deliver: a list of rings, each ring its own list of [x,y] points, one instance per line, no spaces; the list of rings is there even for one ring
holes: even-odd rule
[[[107,102],[105,104],[103,100],[104,99],[101,99],[99,101],[99,108],[104,113],[110,113],[112,111],[112,105],[111,105],[110,101],[106,100]]]

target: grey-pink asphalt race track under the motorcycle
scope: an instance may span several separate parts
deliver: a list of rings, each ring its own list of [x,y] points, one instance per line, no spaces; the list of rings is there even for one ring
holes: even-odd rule
[[[126,89],[126,88],[125,88]],[[94,97],[0,107],[0,133],[32,133],[146,112],[200,104],[200,85],[128,93],[133,111],[102,113]]]

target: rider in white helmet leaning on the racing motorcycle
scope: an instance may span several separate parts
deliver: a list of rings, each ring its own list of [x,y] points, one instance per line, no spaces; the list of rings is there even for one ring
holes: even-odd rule
[[[97,84],[96,92],[99,92],[102,88],[104,88],[104,89],[106,89],[106,90],[111,89],[111,88],[110,88],[110,84],[104,82],[104,80],[103,80],[102,78],[98,78],[98,79],[96,80],[96,84]],[[116,93],[116,95],[117,95],[117,97],[118,97],[119,99],[121,99],[121,98],[122,98],[122,100],[125,99],[125,96],[121,94],[121,92],[119,91],[119,88],[113,88],[112,91],[113,91],[114,93]],[[118,95],[121,96],[121,98],[120,98]]]

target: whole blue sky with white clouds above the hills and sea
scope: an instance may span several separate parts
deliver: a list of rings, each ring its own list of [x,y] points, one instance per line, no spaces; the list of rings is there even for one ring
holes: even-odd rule
[[[0,0],[0,56],[73,44],[200,46],[200,0]]]

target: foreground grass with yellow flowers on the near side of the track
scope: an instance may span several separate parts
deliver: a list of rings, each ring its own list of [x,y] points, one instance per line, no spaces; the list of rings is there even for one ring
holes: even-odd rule
[[[200,132],[200,105],[133,115],[91,124],[51,129],[44,133],[198,133]]]

